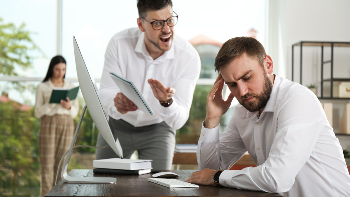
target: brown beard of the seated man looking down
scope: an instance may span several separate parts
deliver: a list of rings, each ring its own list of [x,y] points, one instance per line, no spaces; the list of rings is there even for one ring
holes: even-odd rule
[[[267,101],[270,99],[270,95],[272,92],[272,82],[270,78],[264,74],[264,87],[262,88],[261,94],[246,94],[241,97],[238,101],[244,108],[246,108],[250,112],[259,111],[260,109],[266,106]],[[255,101],[251,102],[243,102],[245,99],[249,97],[255,97]]]

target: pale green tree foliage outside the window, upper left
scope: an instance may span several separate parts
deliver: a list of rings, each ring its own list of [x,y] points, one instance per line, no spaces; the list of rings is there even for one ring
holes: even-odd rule
[[[0,18],[0,76],[18,76],[18,70],[31,68],[33,58],[30,52],[40,51],[31,40],[31,33],[25,29],[25,23],[16,27],[13,23],[4,23]],[[21,82],[11,82],[12,86],[2,87],[2,91],[16,89],[23,92],[33,89]]]

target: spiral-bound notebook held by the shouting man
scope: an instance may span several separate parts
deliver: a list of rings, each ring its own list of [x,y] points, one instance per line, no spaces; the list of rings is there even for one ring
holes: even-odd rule
[[[136,85],[123,77],[110,73],[113,81],[117,84],[121,93],[123,93],[129,100],[131,100],[139,110],[148,113],[149,115],[154,115],[153,110],[149,107],[149,104],[144,99],[140,91],[137,89]]]

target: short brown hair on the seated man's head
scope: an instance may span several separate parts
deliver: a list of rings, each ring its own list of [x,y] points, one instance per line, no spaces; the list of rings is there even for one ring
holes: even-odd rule
[[[264,59],[266,56],[264,47],[255,38],[241,36],[231,38],[222,45],[215,57],[215,71],[219,73],[220,68],[231,63],[244,53],[246,53],[249,57],[256,59],[260,66],[264,67]]]

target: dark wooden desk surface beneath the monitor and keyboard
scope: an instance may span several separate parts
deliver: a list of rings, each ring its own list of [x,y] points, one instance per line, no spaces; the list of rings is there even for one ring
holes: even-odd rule
[[[186,179],[196,170],[167,170]],[[71,170],[69,176],[76,177],[116,177],[117,183],[65,183],[60,181],[46,196],[281,196],[238,190],[217,186],[200,185],[199,188],[167,188],[147,181],[152,174],[145,175],[94,175],[92,170]]]

